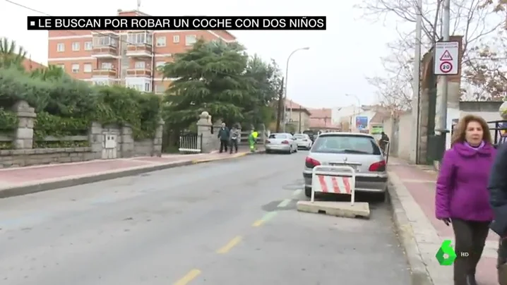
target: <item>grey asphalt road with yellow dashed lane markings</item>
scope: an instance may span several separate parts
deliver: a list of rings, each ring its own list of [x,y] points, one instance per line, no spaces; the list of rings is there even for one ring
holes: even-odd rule
[[[407,285],[387,205],[297,212],[304,153],[0,200],[2,285]]]

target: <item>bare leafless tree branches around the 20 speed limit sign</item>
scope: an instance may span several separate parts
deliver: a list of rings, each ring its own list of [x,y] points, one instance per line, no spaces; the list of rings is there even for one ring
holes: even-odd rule
[[[423,38],[421,44],[424,53],[431,49],[434,42],[441,38],[442,23],[440,19],[443,0],[422,0],[422,2],[423,9],[420,12],[422,14]],[[400,40],[391,43],[390,50],[392,55],[397,55],[398,59],[403,59],[405,62],[398,62],[398,65],[396,65],[395,62],[390,61],[390,68],[388,69],[398,72],[388,71],[386,72],[386,78],[383,79],[391,79],[393,82],[402,84],[400,89],[405,88],[407,85],[405,80],[411,79],[413,74],[412,68],[407,67],[407,64],[412,66],[413,56],[410,55],[414,54],[415,44],[414,30],[406,27],[407,23],[414,27],[414,24],[411,25],[410,23],[415,23],[417,12],[419,12],[416,0],[366,0],[358,7],[363,9],[366,16],[373,16],[376,21],[379,18],[392,20],[395,16],[395,25]],[[470,94],[470,91],[467,90],[473,89],[472,94],[475,94],[475,97],[487,98],[482,93],[489,92],[487,88],[489,83],[478,80],[477,78],[480,78],[480,75],[475,76],[475,73],[484,69],[484,61],[489,57],[480,56],[482,63],[479,63],[479,61],[470,60],[471,55],[469,53],[484,50],[486,48],[485,44],[480,43],[479,40],[491,37],[503,25],[504,18],[495,13],[497,10],[498,8],[494,5],[484,4],[484,0],[451,0],[451,35],[463,35],[462,71],[465,76],[463,76],[462,86],[464,94]],[[400,26],[404,26],[405,30],[400,29]],[[400,53],[405,54],[405,56],[400,56]],[[392,57],[392,55],[387,56],[387,58]],[[472,57],[477,57],[477,55]],[[382,61],[386,65],[386,58],[383,58]],[[400,80],[400,77],[405,78],[405,80]],[[475,78],[475,80],[470,80],[470,78]],[[372,81],[370,80],[370,82]],[[378,82],[378,80],[373,82]],[[376,84],[374,85],[376,86]],[[379,91],[379,93],[391,94],[391,92],[383,91]],[[482,95],[479,95],[479,93]],[[385,98],[382,100],[389,101]]]

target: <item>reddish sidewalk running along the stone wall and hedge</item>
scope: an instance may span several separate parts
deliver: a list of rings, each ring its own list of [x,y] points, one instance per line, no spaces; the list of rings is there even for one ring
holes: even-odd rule
[[[263,150],[254,153],[261,152]],[[251,154],[251,152],[239,150],[236,154],[218,152],[209,154],[163,154],[162,157],[97,159],[90,162],[0,169],[0,198],[133,176],[177,166],[232,159],[247,154]]]

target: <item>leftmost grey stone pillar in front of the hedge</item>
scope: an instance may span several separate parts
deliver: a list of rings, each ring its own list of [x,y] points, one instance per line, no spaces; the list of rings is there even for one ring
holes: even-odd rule
[[[18,115],[18,129],[14,133],[13,147],[16,150],[32,149],[33,123],[37,117],[35,109],[21,100],[14,104],[13,111]]]

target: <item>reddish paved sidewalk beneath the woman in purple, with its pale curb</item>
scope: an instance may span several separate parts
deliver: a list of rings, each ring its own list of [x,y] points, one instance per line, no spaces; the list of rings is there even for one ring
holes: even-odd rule
[[[429,274],[433,281],[430,284],[453,284],[453,267],[439,265],[435,257],[443,240],[454,240],[451,226],[446,226],[435,218],[436,171],[431,166],[411,165],[390,157],[388,172],[393,185],[389,192],[393,198],[394,219],[410,266],[412,269],[423,269],[424,273]],[[490,232],[482,260],[477,267],[477,282],[481,285],[498,284],[496,248],[498,236]]]

